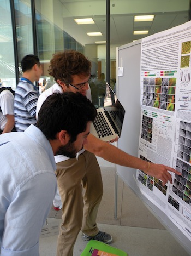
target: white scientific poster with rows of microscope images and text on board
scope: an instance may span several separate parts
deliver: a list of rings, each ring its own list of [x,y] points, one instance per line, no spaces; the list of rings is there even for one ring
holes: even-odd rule
[[[173,183],[137,170],[140,190],[191,241],[191,22],[142,39],[139,157],[171,166]]]

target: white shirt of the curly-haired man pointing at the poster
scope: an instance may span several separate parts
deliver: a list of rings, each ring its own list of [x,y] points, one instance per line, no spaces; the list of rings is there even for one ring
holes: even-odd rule
[[[56,93],[56,92],[63,93],[62,87],[59,86],[57,83],[53,84],[53,86],[51,86],[49,89],[45,90],[43,93],[40,94],[40,96],[38,98],[38,101],[37,101],[37,117],[38,117],[38,112],[40,110],[40,107],[41,107],[41,105],[43,105],[45,99],[48,96],[50,96],[50,95],[52,95],[53,93]],[[91,89],[90,88],[88,90],[86,90],[86,97],[89,100],[92,100]],[[79,155],[81,153],[83,153],[84,151],[85,151],[84,149],[80,150]],[[63,155],[55,156],[56,163],[59,163],[59,162],[62,162],[62,161],[68,160],[68,159],[69,159],[69,157],[63,156]]]

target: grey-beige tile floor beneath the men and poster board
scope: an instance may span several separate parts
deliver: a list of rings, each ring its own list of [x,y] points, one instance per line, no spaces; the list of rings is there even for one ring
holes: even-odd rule
[[[191,255],[120,178],[118,179],[117,219],[114,219],[114,165],[100,158],[98,161],[102,169],[104,195],[99,207],[97,223],[100,230],[112,235],[111,245],[126,251],[129,256]],[[43,235],[42,232],[40,256],[56,256],[61,214],[61,211],[51,209],[47,219],[50,234]],[[47,227],[46,224],[45,227]],[[87,242],[81,239],[81,233],[79,233],[74,247],[74,256],[80,256],[86,244]]]

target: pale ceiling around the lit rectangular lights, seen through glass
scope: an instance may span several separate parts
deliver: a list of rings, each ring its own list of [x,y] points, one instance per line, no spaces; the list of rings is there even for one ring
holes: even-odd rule
[[[59,0],[62,3],[63,29],[82,45],[106,41],[105,0]],[[133,30],[157,33],[188,21],[189,0],[111,0],[111,45],[123,45],[147,35],[133,35]],[[134,22],[134,15],[154,14],[153,22]],[[77,25],[74,18],[92,18],[95,24]],[[87,32],[102,32],[89,37]]]

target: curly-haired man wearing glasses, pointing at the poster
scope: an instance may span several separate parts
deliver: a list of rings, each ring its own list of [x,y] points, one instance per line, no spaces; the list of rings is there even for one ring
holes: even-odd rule
[[[50,61],[49,75],[56,84],[39,96],[38,111],[47,96],[56,91],[79,92],[91,99],[89,79],[91,78],[91,62],[75,50],[67,50],[53,55]],[[172,183],[168,170],[178,172],[161,164],[148,163],[140,158],[130,156],[124,151],[97,139],[89,134],[87,144],[79,152],[78,158],[55,156],[57,163],[57,181],[62,198],[62,223],[57,242],[57,256],[72,256],[73,247],[82,230],[83,240],[99,240],[111,243],[112,237],[99,231],[96,224],[98,208],[103,195],[103,184],[96,156],[112,163],[135,169],[159,178],[163,185]],[[82,187],[85,189],[82,195]]]

